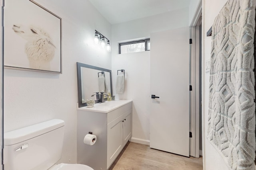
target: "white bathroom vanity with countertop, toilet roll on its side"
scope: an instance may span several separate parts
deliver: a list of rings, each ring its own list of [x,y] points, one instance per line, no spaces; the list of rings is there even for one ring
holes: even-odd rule
[[[77,160],[94,170],[107,170],[132,137],[132,100],[97,103],[80,107],[77,117]],[[89,132],[94,145],[84,144]]]

